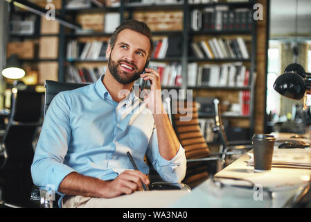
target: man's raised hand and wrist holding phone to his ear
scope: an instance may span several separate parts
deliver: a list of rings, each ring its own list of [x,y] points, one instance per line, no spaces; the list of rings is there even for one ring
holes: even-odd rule
[[[161,99],[161,80],[160,74],[154,69],[146,68],[147,71],[144,74],[141,74],[141,78],[144,80],[150,80],[151,83],[151,91],[148,93],[145,90],[143,93],[145,96],[143,97],[143,101],[145,106],[152,111],[153,114],[161,114],[163,113],[163,103]]]

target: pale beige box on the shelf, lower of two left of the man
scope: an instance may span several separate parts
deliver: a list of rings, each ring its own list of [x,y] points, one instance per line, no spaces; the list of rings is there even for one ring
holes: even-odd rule
[[[38,64],[38,84],[44,85],[44,80],[58,80],[57,62],[39,62]]]

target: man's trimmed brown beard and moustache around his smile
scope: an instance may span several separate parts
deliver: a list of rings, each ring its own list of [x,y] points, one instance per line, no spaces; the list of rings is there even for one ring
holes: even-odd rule
[[[134,82],[135,80],[138,80],[141,77],[140,75],[143,72],[143,70],[134,72],[132,76],[128,76],[125,73],[125,71],[118,70],[117,67],[120,64],[120,62],[126,62],[127,64],[136,67],[136,65],[126,60],[118,60],[118,62],[115,62],[114,60],[112,60],[111,55],[110,55],[109,60],[108,60],[108,69],[110,73],[112,74],[112,76],[114,76],[114,78],[118,81],[118,83],[127,85],[129,83]]]

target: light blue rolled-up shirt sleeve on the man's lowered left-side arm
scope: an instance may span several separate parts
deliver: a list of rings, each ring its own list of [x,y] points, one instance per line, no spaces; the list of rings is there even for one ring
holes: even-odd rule
[[[31,166],[33,182],[39,187],[57,191],[64,177],[74,171],[63,164],[71,137],[69,115],[69,102],[57,94],[44,117]]]

